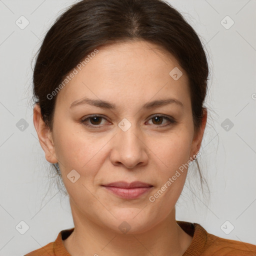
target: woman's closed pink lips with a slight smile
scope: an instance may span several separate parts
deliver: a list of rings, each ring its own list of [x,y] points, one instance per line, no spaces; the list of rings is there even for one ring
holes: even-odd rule
[[[135,199],[141,196],[142,194],[149,192],[153,185],[140,182],[133,181],[131,183],[127,183],[125,181],[112,182],[105,185],[102,185],[108,191],[113,194],[126,199]]]

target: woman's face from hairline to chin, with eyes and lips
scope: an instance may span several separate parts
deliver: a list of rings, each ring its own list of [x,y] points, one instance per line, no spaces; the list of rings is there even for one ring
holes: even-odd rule
[[[41,135],[36,108],[34,124],[46,159],[59,163],[74,223],[146,231],[174,210],[204,126],[195,133],[188,77],[171,54],[145,41],[97,49],[58,92],[52,131]],[[106,186],[134,181],[146,184]]]

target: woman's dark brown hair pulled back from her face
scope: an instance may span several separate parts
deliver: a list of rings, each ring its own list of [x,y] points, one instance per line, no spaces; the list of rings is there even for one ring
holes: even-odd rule
[[[33,70],[33,94],[45,124],[52,129],[56,99],[47,95],[86,55],[100,45],[141,39],[170,52],[186,71],[196,131],[207,89],[206,55],[194,29],[163,0],[81,0],[56,19]]]

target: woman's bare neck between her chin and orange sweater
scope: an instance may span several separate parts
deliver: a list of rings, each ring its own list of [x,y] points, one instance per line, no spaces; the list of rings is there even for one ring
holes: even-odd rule
[[[117,233],[84,218],[72,205],[71,210],[74,231],[63,241],[71,255],[181,256],[192,240],[176,223],[175,207],[153,228],[135,234]]]

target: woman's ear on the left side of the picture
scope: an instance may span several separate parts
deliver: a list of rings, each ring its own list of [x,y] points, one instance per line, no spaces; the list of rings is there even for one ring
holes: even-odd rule
[[[52,132],[43,121],[41,116],[41,109],[38,104],[35,104],[33,109],[33,123],[40,145],[45,153],[45,159],[50,163],[56,163],[58,160],[55,154]]]

